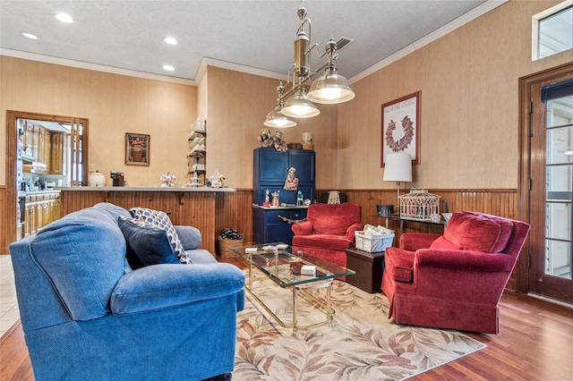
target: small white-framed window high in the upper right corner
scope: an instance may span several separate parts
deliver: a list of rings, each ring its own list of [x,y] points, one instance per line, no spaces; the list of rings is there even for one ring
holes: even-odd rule
[[[533,60],[573,47],[573,1],[558,4],[533,18]]]

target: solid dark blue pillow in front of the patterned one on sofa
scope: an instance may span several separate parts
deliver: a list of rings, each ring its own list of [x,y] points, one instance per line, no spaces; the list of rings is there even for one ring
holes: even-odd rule
[[[125,258],[133,270],[161,263],[181,263],[175,257],[165,230],[124,216],[117,219],[117,224],[124,233],[127,244]]]

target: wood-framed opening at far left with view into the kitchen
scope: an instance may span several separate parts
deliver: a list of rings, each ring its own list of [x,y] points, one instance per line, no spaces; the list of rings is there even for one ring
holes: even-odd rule
[[[26,192],[87,183],[88,120],[73,116],[6,112],[5,241],[21,233]]]

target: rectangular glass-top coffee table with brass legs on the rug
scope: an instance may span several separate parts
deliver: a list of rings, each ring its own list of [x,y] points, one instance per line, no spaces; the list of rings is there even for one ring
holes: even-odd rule
[[[292,248],[284,243],[252,244],[232,248],[236,254],[244,258],[249,264],[249,275],[244,288],[261,306],[269,312],[278,324],[285,328],[292,328],[293,335],[298,329],[308,329],[314,326],[332,325],[334,309],[330,307],[330,292],[334,278],[346,275],[355,275],[355,271],[346,267],[339,267],[334,263],[321,258],[312,257],[303,251],[292,252]],[[253,268],[265,275],[278,287],[292,290],[293,318],[288,323],[278,318],[265,302],[254,293],[252,289]],[[313,274],[312,274],[313,272]],[[313,290],[326,288],[326,301],[321,301],[312,293]],[[313,306],[320,309],[325,319],[319,323],[300,326],[298,323],[299,293],[304,299],[311,301]]]

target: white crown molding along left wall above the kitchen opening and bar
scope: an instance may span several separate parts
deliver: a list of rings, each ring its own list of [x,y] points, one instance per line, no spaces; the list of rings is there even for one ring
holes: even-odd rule
[[[42,63],[54,63],[63,66],[70,66],[78,69],[93,70],[96,72],[109,72],[111,74],[126,75],[129,77],[142,78],[145,80],[161,80],[164,82],[179,83],[182,85],[197,86],[195,80],[187,80],[184,78],[170,77],[168,75],[152,74],[150,72],[138,72],[135,70],[121,69],[113,66],[106,66],[97,63],[84,63],[81,61],[68,60],[65,58],[57,58],[51,55],[37,55],[35,53],[22,52],[20,50],[0,48],[0,55],[6,55],[14,58],[21,58],[30,61],[38,61]]]

